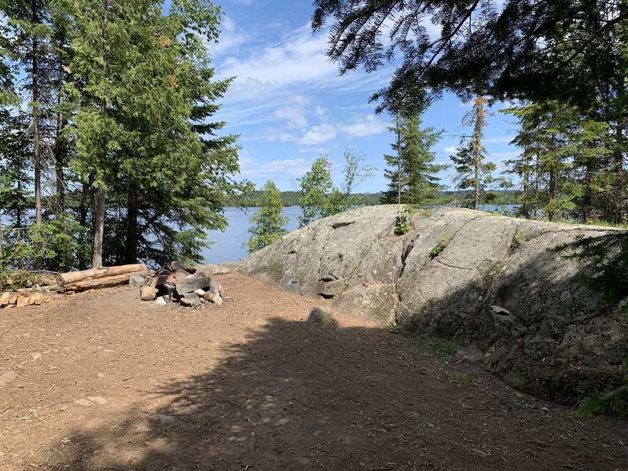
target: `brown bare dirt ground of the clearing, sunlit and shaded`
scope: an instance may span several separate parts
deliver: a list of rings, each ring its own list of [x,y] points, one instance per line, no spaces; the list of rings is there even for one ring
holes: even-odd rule
[[[0,470],[628,470],[626,422],[571,418],[364,320],[305,322],[327,301],[216,279],[233,302],[119,287],[0,310]]]

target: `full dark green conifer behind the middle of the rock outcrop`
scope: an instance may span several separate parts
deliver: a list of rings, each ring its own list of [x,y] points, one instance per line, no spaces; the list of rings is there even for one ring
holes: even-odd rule
[[[391,144],[396,156],[384,155],[384,160],[391,170],[384,170],[384,177],[391,182],[389,190],[382,193],[380,200],[384,204],[413,204],[421,206],[433,202],[436,192],[444,186],[435,174],[449,165],[433,163],[436,154],[430,151],[440,140],[444,130],[433,127],[421,129],[419,114],[399,117],[394,127],[389,130],[397,136],[397,142]]]

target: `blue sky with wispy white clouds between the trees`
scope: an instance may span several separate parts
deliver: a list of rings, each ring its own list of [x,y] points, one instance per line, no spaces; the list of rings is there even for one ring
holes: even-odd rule
[[[216,118],[226,122],[226,133],[241,135],[240,177],[256,188],[270,179],[280,190],[294,190],[295,179],[327,154],[340,186],[343,153],[350,148],[364,156],[365,165],[377,168],[357,191],[385,190],[383,155],[391,154],[394,142],[391,117],[375,114],[368,97],[389,82],[394,63],[371,74],[355,70],[340,76],[325,56],[327,34],[311,30],[309,0],[225,0],[220,6],[225,17],[218,44],[209,47],[211,61],[216,78],[235,78]],[[500,168],[502,160],[519,154],[509,145],[514,124],[511,116],[498,112],[503,107],[491,108],[495,116],[488,118],[484,141],[488,160]],[[444,129],[433,147],[435,163],[451,163],[449,156],[465,133],[459,126],[470,110],[470,104],[448,95],[424,114],[423,127]],[[438,177],[451,186],[447,177],[452,173],[445,170]]]

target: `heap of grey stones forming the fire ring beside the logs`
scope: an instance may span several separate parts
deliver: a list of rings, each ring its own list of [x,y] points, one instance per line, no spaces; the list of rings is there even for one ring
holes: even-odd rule
[[[163,267],[155,276],[142,278],[131,276],[130,285],[140,288],[140,299],[159,304],[178,301],[181,306],[198,307],[204,303],[218,306],[223,301],[232,301],[225,295],[220,283],[211,279],[216,270],[211,266],[192,267],[184,262],[172,262]]]

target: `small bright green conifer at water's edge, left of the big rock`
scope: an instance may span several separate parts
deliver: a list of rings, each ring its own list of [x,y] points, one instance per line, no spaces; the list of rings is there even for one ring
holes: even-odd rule
[[[288,223],[288,218],[282,216],[281,192],[271,180],[262,186],[262,191],[264,192],[262,207],[248,219],[251,227],[247,232],[251,234],[251,239],[244,243],[248,253],[259,251],[260,248],[269,246],[288,233],[284,227]]]

